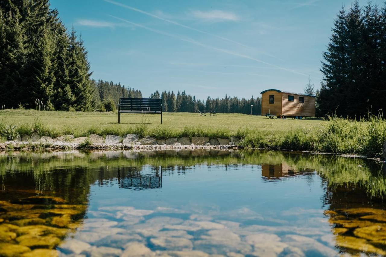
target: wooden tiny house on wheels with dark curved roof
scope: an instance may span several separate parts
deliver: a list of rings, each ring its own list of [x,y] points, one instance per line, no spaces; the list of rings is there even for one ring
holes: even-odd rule
[[[315,96],[268,89],[261,92],[261,115],[278,118],[315,117]]]

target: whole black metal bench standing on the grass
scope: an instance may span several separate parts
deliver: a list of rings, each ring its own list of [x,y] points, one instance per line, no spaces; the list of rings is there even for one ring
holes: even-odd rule
[[[161,114],[161,124],[162,124],[162,99],[161,98],[119,98],[118,123],[120,123],[121,113]]]

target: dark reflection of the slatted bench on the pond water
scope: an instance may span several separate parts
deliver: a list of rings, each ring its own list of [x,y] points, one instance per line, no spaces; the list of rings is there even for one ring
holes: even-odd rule
[[[162,188],[161,172],[132,172],[118,170],[119,188],[129,188],[133,190]]]

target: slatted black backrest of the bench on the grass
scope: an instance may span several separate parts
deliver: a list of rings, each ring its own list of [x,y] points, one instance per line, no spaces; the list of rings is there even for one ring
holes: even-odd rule
[[[161,98],[119,98],[119,108],[122,111],[161,112]]]

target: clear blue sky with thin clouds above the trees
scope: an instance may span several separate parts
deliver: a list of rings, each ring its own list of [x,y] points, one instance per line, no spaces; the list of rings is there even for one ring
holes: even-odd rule
[[[303,92],[308,76],[319,87],[342,5],[351,1],[51,0],[81,34],[92,78],[198,99]]]

